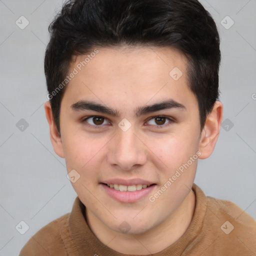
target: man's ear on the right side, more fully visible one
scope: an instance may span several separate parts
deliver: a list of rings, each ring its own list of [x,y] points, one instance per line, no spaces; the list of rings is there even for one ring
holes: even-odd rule
[[[215,147],[223,117],[223,104],[215,101],[212,111],[207,115],[199,142],[200,159],[209,157]]]

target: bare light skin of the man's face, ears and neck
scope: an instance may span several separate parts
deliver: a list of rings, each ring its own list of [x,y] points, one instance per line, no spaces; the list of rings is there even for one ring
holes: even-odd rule
[[[191,190],[197,160],[157,198],[119,202],[104,192],[99,182],[109,178],[142,178],[156,183],[153,195],[191,156],[207,158],[213,151],[222,120],[223,106],[216,101],[200,132],[195,95],[188,87],[186,58],[173,48],[99,48],[99,53],[71,79],[60,107],[59,136],[49,102],[45,113],[55,152],[64,157],[67,171],[80,178],[72,183],[86,206],[92,232],[108,247],[125,254],[156,253],[175,242],[193,216],[195,196]],[[70,71],[86,55],[74,57]],[[174,80],[169,72],[178,67],[183,75]],[[162,109],[135,115],[137,107],[173,99],[185,109]],[[73,110],[79,100],[90,100],[116,109],[119,116],[95,110]],[[87,116],[102,116],[102,124]],[[154,116],[166,116],[163,124]],[[126,118],[131,127],[118,123]],[[90,125],[90,126],[89,126]],[[96,128],[93,128],[97,126]],[[161,126],[161,127],[159,127]],[[130,229],[122,233],[126,221]],[[166,238],[167,237],[167,238]]]

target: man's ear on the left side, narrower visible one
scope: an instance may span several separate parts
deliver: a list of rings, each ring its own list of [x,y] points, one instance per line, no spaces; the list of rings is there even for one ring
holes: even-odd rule
[[[53,145],[53,149],[58,156],[64,158],[61,137],[57,131],[49,101],[44,103],[44,110],[50,128],[50,140]]]

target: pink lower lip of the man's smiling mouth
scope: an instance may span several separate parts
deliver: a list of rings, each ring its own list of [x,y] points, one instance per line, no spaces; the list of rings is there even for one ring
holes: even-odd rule
[[[135,202],[139,199],[145,197],[147,194],[149,194],[155,187],[155,184],[150,185],[146,188],[142,188],[140,190],[136,191],[119,191],[114,188],[111,188],[103,183],[100,183],[100,185],[105,189],[106,193],[111,196],[112,198],[116,199],[120,202]]]

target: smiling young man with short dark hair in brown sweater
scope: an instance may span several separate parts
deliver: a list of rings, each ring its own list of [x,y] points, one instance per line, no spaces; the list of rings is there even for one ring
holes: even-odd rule
[[[72,0],[50,25],[45,113],[77,197],[29,255],[255,255],[256,223],[193,184],[222,120],[197,0]]]

